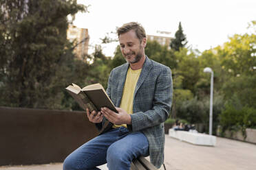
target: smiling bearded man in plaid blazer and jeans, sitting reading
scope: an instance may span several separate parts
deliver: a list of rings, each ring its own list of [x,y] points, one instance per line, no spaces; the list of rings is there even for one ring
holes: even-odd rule
[[[118,113],[102,108],[87,110],[89,121],[102,127],[105,119],[113,128],[85,143],[65,159],[64,170],[98,169],[107,163],[110,170],[130,169],[138,156],[150,156],[160,168],[164,160],[164,121],[169,116],[172,80],[169,67],[145,55],[145,29],[127,23],[118,29],[120,49],[127,63],[109,75],[107,95]]]

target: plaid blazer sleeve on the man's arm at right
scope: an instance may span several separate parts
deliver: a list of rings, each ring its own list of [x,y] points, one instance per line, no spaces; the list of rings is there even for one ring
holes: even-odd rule
[[[135,132],[147,127],[160,125],[160,123],[163,123],[169,117],[173,93],[171,69],[169,69],[169,67],[164,67],[164,69],[160,71],[156,79],[156,87],[154,90],[155,93],[151,109],[145,110],[145,112],[131,114],[129,130]],[[145,89],[145,93],[147,93],[147,89]]]

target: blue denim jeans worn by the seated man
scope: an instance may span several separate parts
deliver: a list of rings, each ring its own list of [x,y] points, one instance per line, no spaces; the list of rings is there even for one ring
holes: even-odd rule
[[[72,152],[63,163],[63,170],[98,169],[107,163],[110,170],[130,169],[138,156],[149,156],[149,142],[141,132],[125,127],[109,130]]]

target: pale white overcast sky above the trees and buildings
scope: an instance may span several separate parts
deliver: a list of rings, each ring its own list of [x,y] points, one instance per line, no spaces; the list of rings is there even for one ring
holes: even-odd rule
[[[188,46],[206,49],[223,45],[229,36],[248,32],[248,23],[256,20],[255,0],[78,0],[89,5],[86,13],[78,12],[74,25],[87,28],[89,53],[100,38],[115,32],[116,27],[135,21],[146,34],[171,32],[174,37],[179,22],[188,40]],[[109,34],[116,38],[116,34]],[[106,56],[114,56],[118,42],[103,45]]]

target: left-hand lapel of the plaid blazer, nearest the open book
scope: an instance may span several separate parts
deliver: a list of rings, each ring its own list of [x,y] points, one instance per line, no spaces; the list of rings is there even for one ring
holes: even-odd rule
[[[122,92],[125,86],[125,80],[126,80],[126,75],[127,75],[127,71],[129,68],[129,63],[125,63],[122,66],[122,69],[120,71],[120,79],[118,82],[118,88],[117,88],[117,99],[116,99],[116,106],[119,107],[120,103],[121,103],[121,99],[122,99]],[[118,80],[116,80],[118,81]]]

